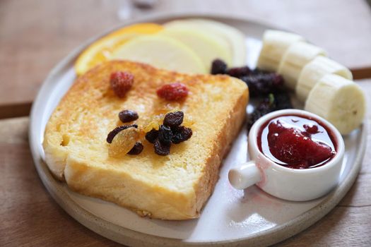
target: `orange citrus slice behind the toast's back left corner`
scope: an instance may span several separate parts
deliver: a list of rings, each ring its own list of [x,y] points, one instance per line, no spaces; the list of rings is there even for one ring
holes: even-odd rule
[[[85,49],[75,62],[75,71],[80,76],[90,68],[112,59],[112,51],[139,35],[151,35],[163,30],[155,23],[129,25],[102,37]]]

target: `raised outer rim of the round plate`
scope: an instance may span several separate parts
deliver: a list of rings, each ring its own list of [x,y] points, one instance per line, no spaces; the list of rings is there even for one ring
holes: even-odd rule
[[[153,236],[149,234],[143,234],[138,231],[134,231],[131,229],[126,229],[124,227],[118,226],[112,222],[108,222],[105,219],[97,217],[92,213],[88,212],[88,210],[83,209],[80,205],[78,205],[75,201],[73,201],[70,196],[64,191],[63,183],[54,179],[52,174],[47,169],[47,165],[45,162],[42,161],[40,157],[40,153],[37,147],[37,143],[35,140],[35,133],[33,133],[33,129],[35,128],[35,121],[33,119],[37,118],[37,108],[41,104],[43,92],[47,91],[49,87],[52,86],[52,83],[49,83],[54,76],[61,71],[62,68],[66,67],[66,64],[69,64],[73,57],[77,56],[85,47],[87,47],[91,42],[97,40],[98,38],[106,35],[112,30],[116,30],[117,28],[121,28],[125,25],[131,25],[133,23],[139,22],[159,22],[161,20],[166,19],[175,19],[175,18],[211,18],[211,19],[228,19],[228,20],[235,20],[240,22],[247,22],[252,23],[254,25],[260,25],[264,28],[277,28],[277,29],[284,29],[277,26],[273,26],[271,24],[267,24],[261,21],[254,21],[248,18],[243,18],[240,16],[229,16],[229,15],[220,15],[220,14],[211,14],[211,13],[159,13],[148,15],[144,18],[134,18],[132,20],[127,20],[119,25],[115,26],[114,28],[110,28],[105,32],[102,32],[100,35],[96,35],[95,37],[91,37],[90,39],[83,42],[83,44],[79,45],[72,52],[70,52],[64,59],[61,59],[59,63],[52,68],[49,72],[47,78],[43,81],[42,86],[35,97],[35,101],[33,102],[33,106],[30,112],[30,126],[29,126],[29,144],[30,150],[33,156],[33,161],[37,170],[37,174],[39,174],[42,183],[44,184],[47,191],[52,195],[52,198],[71,216],[73,219],[76,219],[78,222],[83,224],[88,229],[95,231],[95,233],[100,234],[101,236],[105,236],[107,239],[111,239],[118,243],[123,243],[129,246],[141,246],[143,244],[148,244],[150,246],[195,246],[195,245],[216,245],[216,246],[237,246],[237,245],[253,245],[253,246],[262,246],[262,245],[271,245],[273,243],[278,243],[283,241],[284,239],[288,239],[290,236],[298,234],[300,231],[307,229],[310,225],[317,222],[319,219],[324,217],[328,212],[330,212],[343,198],[344,195],[349,191],[351,186],[353,185],[355,179],[357,178],[358,172],[360,171],[360,167],[362,164],[363,156],[365,155],[365,147],[367,143],[367,124],[364,122],[363,125],[360,127],[361,131],[361,138],[360,138],[360,148],[358,152],[356,152],[355,159],[353,162],[353,166],[349,171],[349,174],[340,183],[334,191],[326,195],[326,199],[319,203],[319,205],[312,207],[312,209],[304,212],[302,215],[291,219],[289,222],[285,224],[277,225],[276,227],[272,227],[271,229],[266,229],[264,231],[259,231],[254,233],[246,238],[240,238],[235,240],[223,240],[223,241],[205,241],[205,242],[184,242],[182,239],[170,239],[160,236]],[[39,133],[37,133],[39,134]],[[271,236],[270,238],[266,238],[266,236]]]

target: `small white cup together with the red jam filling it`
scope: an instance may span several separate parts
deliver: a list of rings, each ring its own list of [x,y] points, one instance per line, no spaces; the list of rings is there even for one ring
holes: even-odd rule
[[[338,184],[343,138],[316,114],[298,109],[266,114],[252,126],[248,144],[251,161],[228,174],[237,189],[256,184],[278,198],[305,201]]]

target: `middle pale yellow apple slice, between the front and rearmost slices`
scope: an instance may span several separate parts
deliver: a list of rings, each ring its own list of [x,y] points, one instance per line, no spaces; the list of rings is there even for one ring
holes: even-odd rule
[[[226,64],[231,64],[232,54],[228,43],[217,35],[181,26],[165,27],[158,33],[186,44],[199,55],[208,72],[211,71],[211,63],[214,59],[223,59]]]

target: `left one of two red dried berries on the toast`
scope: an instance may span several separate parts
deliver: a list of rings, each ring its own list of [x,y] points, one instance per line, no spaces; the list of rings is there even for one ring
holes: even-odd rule
[[[126,92],[130,90],[134,83],[134,76],[131,73],[124,71],[116,71],[111,74],[110,84],[114,93],[122,98]]]

